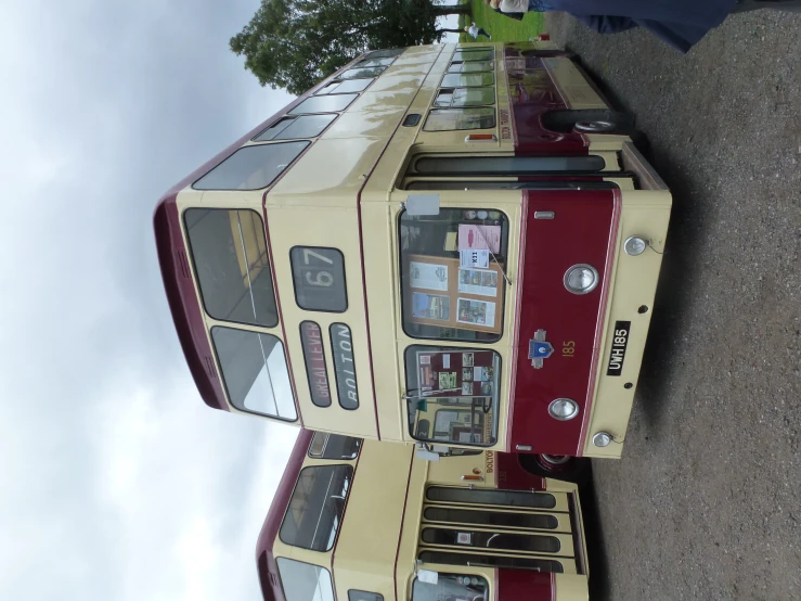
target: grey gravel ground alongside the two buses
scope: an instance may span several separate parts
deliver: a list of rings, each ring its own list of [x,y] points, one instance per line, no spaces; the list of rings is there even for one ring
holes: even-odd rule
[[[801,14],[687,55],[546,23],[674,202],[624,458],[593,465],[593,599],[801,599]]]

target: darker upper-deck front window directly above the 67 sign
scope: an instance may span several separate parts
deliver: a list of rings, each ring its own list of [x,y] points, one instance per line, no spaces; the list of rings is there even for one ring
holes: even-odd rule
[[[183,218],[206,312],[222,321],[277,325],[264,226],[259,214],[189,208]]]

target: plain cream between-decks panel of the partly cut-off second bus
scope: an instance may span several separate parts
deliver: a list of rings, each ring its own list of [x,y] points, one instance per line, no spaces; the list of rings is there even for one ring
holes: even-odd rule
[[[393,598],[395,558],[406,499],[412,445],[365,440],[334,553],[336,591],[348,589]],[[419,504],[417,498],[411,503]]]

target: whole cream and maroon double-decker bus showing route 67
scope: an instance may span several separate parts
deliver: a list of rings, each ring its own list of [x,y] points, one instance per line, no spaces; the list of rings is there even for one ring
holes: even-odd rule
[[[630,126],[542,42],[353,61],[156,207],[201,396],[429,458],[620,457],[671,206]]]

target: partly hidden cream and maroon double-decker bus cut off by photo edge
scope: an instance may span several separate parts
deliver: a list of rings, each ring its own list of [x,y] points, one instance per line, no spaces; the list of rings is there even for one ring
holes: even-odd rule
[[[264,601],[579,601],[574,484],[515,453],[441,462],[413,446],[302,432],[258,538]]]

